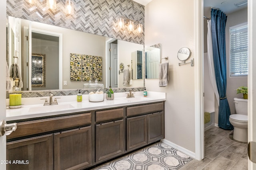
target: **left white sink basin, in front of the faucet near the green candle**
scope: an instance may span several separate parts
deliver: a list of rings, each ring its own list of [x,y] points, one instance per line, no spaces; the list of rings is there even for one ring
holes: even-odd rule
[[[30,107],[28,110],[28,113],[58,111],[58,110],[71,109],[71,108],[74,108],[74,106],[72,106],[71,104],[38,106],[38,107]]]

